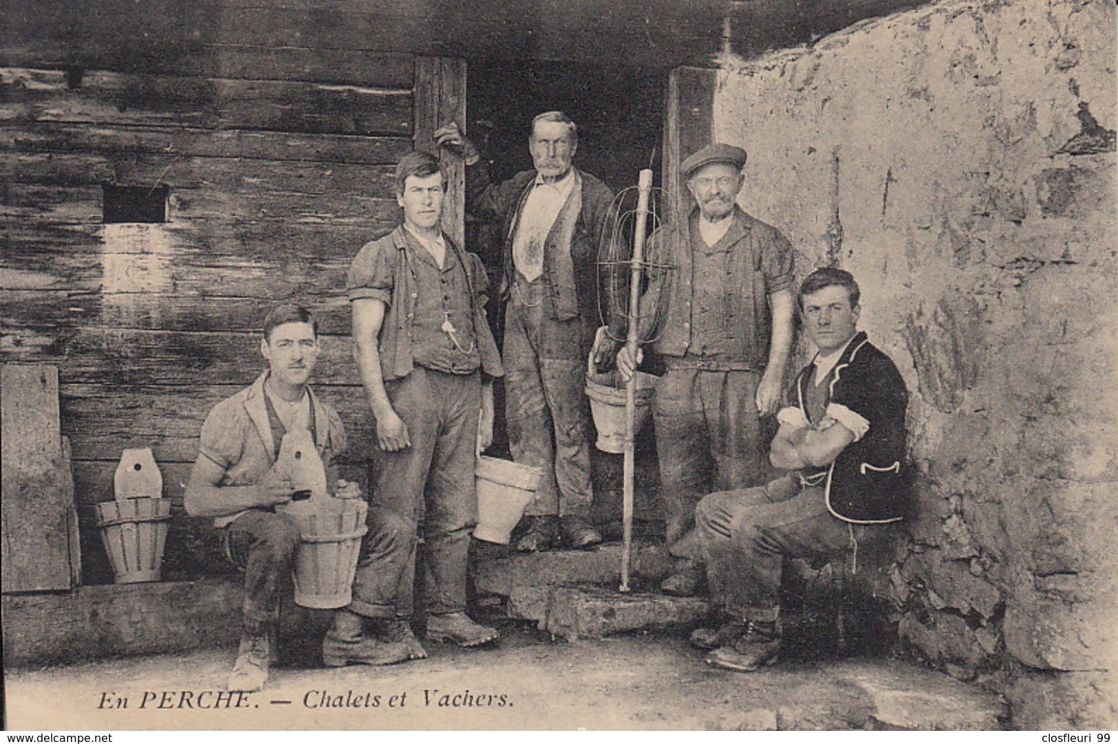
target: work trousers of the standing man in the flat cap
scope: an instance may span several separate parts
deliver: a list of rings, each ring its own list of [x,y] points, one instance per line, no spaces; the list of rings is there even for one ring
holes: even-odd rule
[[[667,549],[676,557],[702,560],[695,506],[704,495],[762,483],[759,382],[756,372],[685,369],[667,360],[652,412]]]

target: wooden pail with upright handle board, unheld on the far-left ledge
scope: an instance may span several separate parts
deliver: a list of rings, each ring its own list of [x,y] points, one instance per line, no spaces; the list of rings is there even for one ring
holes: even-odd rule
[[[101,540],[119,584],[159,581],[171,519],[151,449],[125,449],[113,478],[116,499],[97,504]]]

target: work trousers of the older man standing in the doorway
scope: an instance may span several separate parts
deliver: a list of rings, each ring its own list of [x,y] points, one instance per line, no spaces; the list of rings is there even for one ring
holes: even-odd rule
[[[590,416],[580,317],[557,321],[543,282],[518,277],[505,312],[504,395],[509,448],[517,462],[543,470],[528,515],[589,517]]]

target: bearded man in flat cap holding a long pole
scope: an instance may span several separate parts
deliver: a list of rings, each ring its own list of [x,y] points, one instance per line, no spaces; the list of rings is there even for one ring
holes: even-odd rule
[[[650,240],[651,259],[675,267],[653,275],[641,299],[641,317],[656,322],[641,337],[656,338],[666,368],[653,419],[667,546],[676,557],[661,589],[671,594],[694,594],[705,580],[699,500],[766,477],[760,417],[777,411],[792,347],[792,245],[738,207],[745,164],[745,150],[722,143],[684,160],[695,206]],[[623,349],[622,374],[642,357],[639,349],[636,359]]]

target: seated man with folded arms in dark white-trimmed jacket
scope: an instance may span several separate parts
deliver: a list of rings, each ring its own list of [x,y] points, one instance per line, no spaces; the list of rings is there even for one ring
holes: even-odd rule
[[[798,473],[767,486],[705,496],[695,511],[707,576],[728,620],[699,629],[711,666],[754,671],[777,659],[785,556],[828,557],[890,534],[901,519],[908,391],[892,360],[856,324],[859,288],[822,268],[799,289],[807,337],[818,349],[778,414],[773,465]]]

